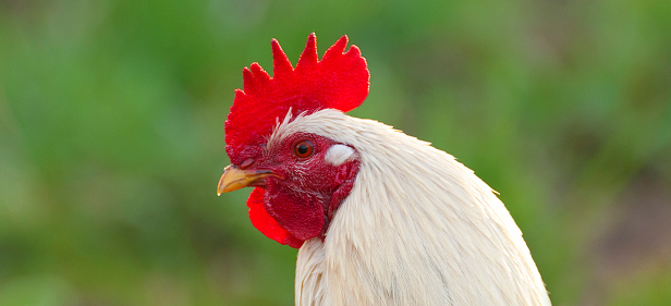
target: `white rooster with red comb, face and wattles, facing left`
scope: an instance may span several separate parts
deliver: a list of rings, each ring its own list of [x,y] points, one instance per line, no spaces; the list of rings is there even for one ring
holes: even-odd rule
[[[217,193],[245,186],[252,224],[298,248],[296,305],[550,305],[522,233],[493,191],[429,143],[345,112],[369,73],[347,37],[315,34],[293,68],[243,70]]]

